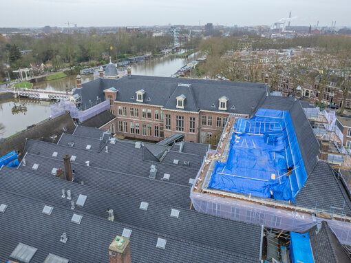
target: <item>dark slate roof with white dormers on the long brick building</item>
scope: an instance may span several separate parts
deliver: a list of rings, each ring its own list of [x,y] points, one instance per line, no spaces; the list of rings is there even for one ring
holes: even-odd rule
[[[184,84],[190,85],[187,87]],[[99,81],[83,84],[83,88],[77,89],[74,93],[79,92],[83,105],[89,105],[89,99],[96,101],[96,96],[103,98],[103,90],[110,87],[118,90],[116,101],[137,103],[136,92],[142,89],[145,90],[143,104],[160,105],[167,109],[177,109],[175,98],[184,94],[187,97],[184,101],[184,110],[192,112],[198,112],[198,109],[221,112],[218,110],[219,98],[226,96],[228,98],[227,110],[224,112],[248,115],[255,113],[257,105],[262,103],[268,94],[268,87],[260,83],[136,75],[131,78],[99,78]]]

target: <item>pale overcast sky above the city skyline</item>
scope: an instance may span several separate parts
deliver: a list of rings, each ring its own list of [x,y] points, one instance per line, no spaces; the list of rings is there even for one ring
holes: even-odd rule
[[[0,0],[0,27],[122,25],[351,25],[351,0]]]

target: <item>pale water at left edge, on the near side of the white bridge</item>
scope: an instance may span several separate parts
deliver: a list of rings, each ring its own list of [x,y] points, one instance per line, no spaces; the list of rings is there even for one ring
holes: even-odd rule
[[[9,101],[0,101],[0,124],[4,129],[0,130],[0,138],[6,138],[25,129],[34,123],[50,117],[50,102],[36,101],[28,98],[13,98]],[[14,105],[25,105],[27,111],[12,112]]]

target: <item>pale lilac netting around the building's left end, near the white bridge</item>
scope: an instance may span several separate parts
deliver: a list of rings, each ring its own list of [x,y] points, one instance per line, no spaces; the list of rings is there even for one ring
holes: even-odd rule
[[[109,109],[109,100],[98,103],[89,109],[79,110],[72,101],[60,101],[51,105],[51,118],[56,118],[64,114],[66,111],[70,112],[72,118],[78,119],[80,122],[92,118],[101,112]]]

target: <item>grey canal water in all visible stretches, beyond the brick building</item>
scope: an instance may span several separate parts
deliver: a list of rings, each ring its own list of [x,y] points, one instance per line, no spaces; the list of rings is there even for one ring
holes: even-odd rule
[[[174,56],[167,55],[161,57],[154,57],[153,59],[134,63],[131,65],[131,74],[145,75],[145,76],[171,76],[180,67],[187,65],[187,63],[198,59],[200,54],[191,54],[187,59],[178,59]],[[118,70],[125,70],[121,67]],[[82,82],[86,83],[92,81],[93,76],[83,75]],[[67,78],[60,78],[54,81],[41,81],[34,83],[34,89],[40,90],[58,90],[65,91],[71,89],[76,85],[76,76],[68,76]],[[0,131],[0,138],[7,138],[12,134],[25,129],[34,123],[39,123],[41,120],[50,117],[50,102],[36,101],[28,99],[12,99],[10,101],[0,101],[0,124],[5,128]],[[12,112],[14,105],[25,105],[27,110],[25,112]]]

